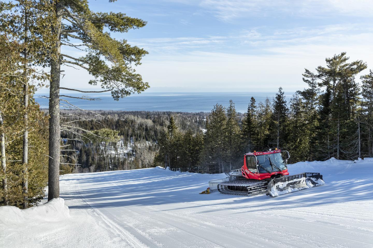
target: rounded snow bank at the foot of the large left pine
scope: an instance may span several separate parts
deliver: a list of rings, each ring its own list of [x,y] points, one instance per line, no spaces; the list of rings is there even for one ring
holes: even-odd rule
[[[62,198],[55,198],[49,202],[28,209],[19,209],[13,206],[0,207],[0,221],[4,223],[14,222],[34,222],[60,221],[70,217],[69,207],[65,205]]]

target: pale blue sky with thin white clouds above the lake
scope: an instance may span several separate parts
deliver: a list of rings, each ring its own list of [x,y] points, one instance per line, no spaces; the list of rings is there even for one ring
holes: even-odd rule
[[[149,91],[301,90],[304,68],[342,51],[373,69],[372,0],[97,0],[90,6],[148,22],[113,36],[149,52],[137,68]],[[65,70],[65,87],[87,88],[89,75]]]

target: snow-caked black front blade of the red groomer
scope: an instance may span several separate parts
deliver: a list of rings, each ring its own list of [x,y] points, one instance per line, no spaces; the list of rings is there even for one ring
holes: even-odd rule
[[[272,179],[268,183],[268,194],[275,197],[323,184],[325,184],[323,175],[320,175],[320,173],[305,172]]]

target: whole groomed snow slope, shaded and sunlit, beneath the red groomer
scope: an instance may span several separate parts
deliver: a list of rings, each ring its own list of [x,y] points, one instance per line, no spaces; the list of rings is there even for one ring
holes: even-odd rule
[[[299,162],[326,184],[278,197],[198,194],[224,175],[161,168],[60,177],[70,218],[0,221],[0,247],[373,247],[373,160]]]

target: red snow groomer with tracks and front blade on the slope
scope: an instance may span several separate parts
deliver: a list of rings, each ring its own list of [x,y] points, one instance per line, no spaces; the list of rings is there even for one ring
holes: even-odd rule
[[[281,153],[286,153],[284,160]],[[267,193],[279,196],[325,184],[320,173],[301,173],[289,175],[288,151],[277,148],[268,151],[249,152],[244,155],[241,169],[225,173],[228,177],[209,182],[210,191],[218,190],[222,194],[250,196]]]

